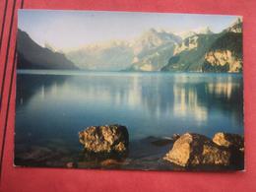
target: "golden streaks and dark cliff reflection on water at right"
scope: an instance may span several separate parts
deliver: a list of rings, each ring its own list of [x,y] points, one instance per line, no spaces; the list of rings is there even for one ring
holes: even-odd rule
[[[242,110],[241,84],[227,80],[217,83],[198,83],[191,87],[186,85],[173,86],[173,115],[193,115],[199,121],[206,121],[209,110],[223,109],[226,112]],[[235,115],[238,115],[239,112]],[[242,117],[239,117],[241,120]]]

